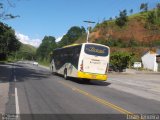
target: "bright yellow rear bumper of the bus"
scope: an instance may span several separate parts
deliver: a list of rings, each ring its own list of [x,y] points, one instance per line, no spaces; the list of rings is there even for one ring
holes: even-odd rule
[[[86,78],[86,79],[91,79],[91,80],[106,81],[107,80],[107,75],[85,73],[85,72],[78,71],[78,78]]]

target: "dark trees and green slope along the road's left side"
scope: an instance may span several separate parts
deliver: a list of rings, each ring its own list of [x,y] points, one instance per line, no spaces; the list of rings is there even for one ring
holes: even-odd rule
[[[22,44],[11,27],[0,23],[0,60],[34,60],[35,54],[35,47]]]

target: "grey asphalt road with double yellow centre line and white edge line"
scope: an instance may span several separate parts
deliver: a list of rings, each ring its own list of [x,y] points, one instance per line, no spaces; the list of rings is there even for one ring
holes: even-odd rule
[[[160,119],[159,101],[116,90],[109,82],[64,80],[47,69],[24,63],[3,67],[10,70],[5,78],[9,81],[5,113],[21,114],[18,119],[120,120],[139,119],[140,114],[155,114],[148,117]]]

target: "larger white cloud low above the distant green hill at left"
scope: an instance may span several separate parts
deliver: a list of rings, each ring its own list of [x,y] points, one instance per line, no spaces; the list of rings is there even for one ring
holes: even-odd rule
[[[29,38],[29,36],[23,35],[23,34],[18,33],[18,32],[16,32],[15,35],[19,39],[19,41],[24,43],[24,44],[29,44],[29,45],[33,45],[35,47],[38,47],[41,43],[40,39],[31,39],[31,38]]]

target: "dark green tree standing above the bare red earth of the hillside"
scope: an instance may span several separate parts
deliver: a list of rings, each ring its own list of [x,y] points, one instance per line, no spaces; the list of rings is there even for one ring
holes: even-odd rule
[[[127,10],[120,11],[119,17],[116,19],[116,24],[120,27],[123,27],[127,21]]]

